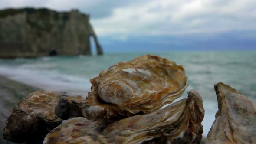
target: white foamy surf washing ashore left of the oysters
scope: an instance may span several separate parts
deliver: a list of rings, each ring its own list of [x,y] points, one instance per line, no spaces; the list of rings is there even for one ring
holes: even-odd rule
[[[46,90],[81,92],[89,91],[89,79],[61,74],[58,70],[28,69],[30,66],[0,66],[0,75]],[[39,65],[38,68],[44,67]]]

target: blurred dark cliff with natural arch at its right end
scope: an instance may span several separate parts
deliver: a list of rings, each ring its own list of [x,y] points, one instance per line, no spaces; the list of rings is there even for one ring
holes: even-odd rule
[[[78,10],[61,13],[45,8],[0,10],[0,58],[89,55],[90,36],[101,55],[102,48],[89,15]]]

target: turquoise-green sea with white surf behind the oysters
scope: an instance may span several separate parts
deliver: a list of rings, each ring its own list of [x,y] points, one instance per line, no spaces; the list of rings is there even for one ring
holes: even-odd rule
[[[256,101],[256,51],[168,51],[105,53],[103,56],[55,56],[35,59],[0,59],[0,75],[43,89],[77,92],[90,91],[90,79],[118,62],[141,55],[157,55],[183,65],[189,90],[197,90],[203,98],[204,136],[215,120],[217,96],[214,84],[224,82]]]

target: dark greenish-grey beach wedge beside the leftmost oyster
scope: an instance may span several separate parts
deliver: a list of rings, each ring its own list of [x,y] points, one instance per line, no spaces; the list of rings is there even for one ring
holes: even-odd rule
[[[0,76],[0,144],[14,144],[3,139],[3,128],[12,108],[29,93],[39,90]]]

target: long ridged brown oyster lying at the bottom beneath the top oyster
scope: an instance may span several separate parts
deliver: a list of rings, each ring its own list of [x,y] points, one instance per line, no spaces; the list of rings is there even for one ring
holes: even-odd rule
[[[199,143],[203,133],[203,101],[198,92],[152,113],[115,122],[86,118],[63,121],[47,134],[44,144]]]

